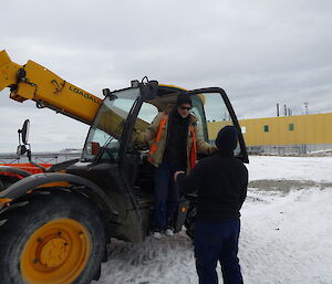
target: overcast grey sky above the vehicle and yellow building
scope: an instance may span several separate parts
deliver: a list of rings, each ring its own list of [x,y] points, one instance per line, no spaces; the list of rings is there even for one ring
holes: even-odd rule
[[[220,86],[238,118],[332,112],[332,1],[1,1],[0,50],[100,97],[147,75]],[[31,120],[32,150],[80,148],[87,126],[0,93],[0,152]]]

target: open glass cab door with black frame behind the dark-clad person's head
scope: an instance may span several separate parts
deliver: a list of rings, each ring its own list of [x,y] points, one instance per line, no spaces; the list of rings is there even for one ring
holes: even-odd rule
[[[199,119],[198,123],[201,124],[203,138],[214,143],[222,127],[227,125],[235,126],[239,138],[238,146],[235,149],[235,157],[248,164],[248,152],[241,127],[226,92],[219,87],[210,87],[194,90],[189,93],[193,96],[193,112]],[[200,104],[197,102],[200,102]]]

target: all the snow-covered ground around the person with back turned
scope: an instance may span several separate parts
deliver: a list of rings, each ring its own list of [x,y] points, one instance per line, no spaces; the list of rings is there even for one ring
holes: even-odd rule
[[[332,157],[255,156],[248,169],[239,244],[245,283],[331,284]],[[197,283],[191,242],[185,232],[142,244],[114,241],[94,282],[106,283]]]

